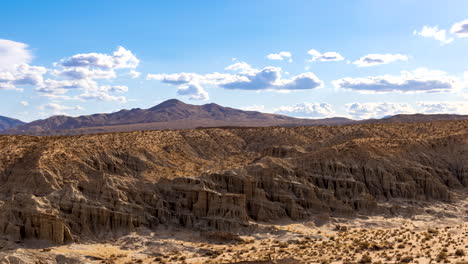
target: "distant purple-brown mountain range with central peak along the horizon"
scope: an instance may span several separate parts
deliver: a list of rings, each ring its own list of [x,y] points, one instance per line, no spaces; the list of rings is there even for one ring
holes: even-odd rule
[[[352,120],[294,118],[284,115],[244,111],[210,103],[191,105],[171,99],[149,109],[134,108],[109,114],[78,117],[65,115],[24,123],[0,116],[0,133],[24,135],[74,135],[136,130],[193,129],[206,127],[268,127],[348,125],[357,123],[428,122],[468,119],[466,115],[395,115],[382,119]]]

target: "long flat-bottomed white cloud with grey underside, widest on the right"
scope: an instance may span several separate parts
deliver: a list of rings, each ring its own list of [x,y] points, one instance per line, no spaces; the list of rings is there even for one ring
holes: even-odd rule
[[[417,69],[402,71],[399,76],[381,75],[364,78],[346,77],[333,81],[336,88],[359,92],[450,92],[460,89],[463,84],[458,78],[443,71]]]

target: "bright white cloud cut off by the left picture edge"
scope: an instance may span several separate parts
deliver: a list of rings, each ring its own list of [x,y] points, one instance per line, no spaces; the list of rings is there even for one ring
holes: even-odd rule
[[[29,64],[32,54],[28,45],[7,39],[0,39],[0,71],[14,70],[15,65]]]

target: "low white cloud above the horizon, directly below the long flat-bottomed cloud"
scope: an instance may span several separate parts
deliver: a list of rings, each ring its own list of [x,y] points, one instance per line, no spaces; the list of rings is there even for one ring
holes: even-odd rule
[[[382,118],[416,112],[411,105],[404,103],[352,103],[347,104],[346,108],[354,119]]]

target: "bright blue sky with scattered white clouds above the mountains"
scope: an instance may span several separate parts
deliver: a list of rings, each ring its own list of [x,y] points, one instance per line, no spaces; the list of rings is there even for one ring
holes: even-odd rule
[[[0,115],[468,114],[466,0],[3,1]]]

